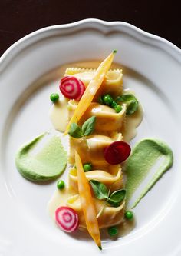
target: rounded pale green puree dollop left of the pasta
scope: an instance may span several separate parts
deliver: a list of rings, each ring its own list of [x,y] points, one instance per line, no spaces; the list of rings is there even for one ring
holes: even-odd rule
[[[23,145],[15,157],[18,171],[30,181],[50,181],[57,178],[67,165],[67,152],[58,136],[51,137],[37,153],[33,152],[45,135],[47,134]]]

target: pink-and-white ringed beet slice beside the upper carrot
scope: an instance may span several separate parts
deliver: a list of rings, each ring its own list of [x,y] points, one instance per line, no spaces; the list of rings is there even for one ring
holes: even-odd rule
[[[85,91],[84,83],[74,76],[65,76],[62,78],[59,88],[64,97],[77,101],[81,99]]]

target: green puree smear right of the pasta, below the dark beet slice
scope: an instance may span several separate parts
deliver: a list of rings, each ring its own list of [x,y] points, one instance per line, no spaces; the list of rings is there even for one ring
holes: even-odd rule
[[[158,181],[164,172],[166,172],[173,165],[173,152],[163,141],[146,138],[137,143],[137,145],[135,145],[133,148],[133,152],[130,155],[130,158],[128,158],[125,168],[127,173],[127,201],[130,200],[143,179],[149,174],[153,165],[155,165],[156,161],[158,161],[161,157],[163,157],[163,161],[161,161],[161,164],[157,168],[153,178],[151,178],[146,187],[143,188],[143,191],[134,202],[132,208],[137,206],[150,188],[155,185],[156,181]]]

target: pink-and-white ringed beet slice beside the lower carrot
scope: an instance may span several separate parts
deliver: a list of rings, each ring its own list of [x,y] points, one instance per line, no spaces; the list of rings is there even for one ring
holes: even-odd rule
[[[70,207],[59,207],[55,211],[55,220],[61,230],[65,232],[72,232],[78,228],[78,214]]]

